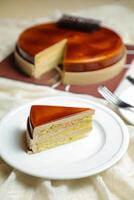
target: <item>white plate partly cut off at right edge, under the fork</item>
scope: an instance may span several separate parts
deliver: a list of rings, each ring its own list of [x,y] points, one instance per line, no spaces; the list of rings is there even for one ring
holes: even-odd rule
[[[126,90],[124,90],[121,93],[120,98],[126,101],[127,103],[134,105],[134,87],[129,87]],[[128,123],[134,125],[134,112],[121,108],[119,109],[119,111]]]

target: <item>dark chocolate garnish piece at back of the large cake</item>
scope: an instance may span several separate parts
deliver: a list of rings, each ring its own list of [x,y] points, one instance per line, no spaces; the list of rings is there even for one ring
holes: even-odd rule
[[[96,31],[100,28],[100,20],[88,19],[84,17],[75,17],[71,15],[63,15],[58,25],[62,28],[80,30],[80,31]]]

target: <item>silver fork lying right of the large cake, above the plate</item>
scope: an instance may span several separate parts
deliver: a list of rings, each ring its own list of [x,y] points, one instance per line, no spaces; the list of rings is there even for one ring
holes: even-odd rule
[[[115,94],[113,94],[106,86],[104,85],[100,85],[98,87],[98,92],[111,104],[120,107],[120,108],[124,108],[127,110],[130,110],[132,112],[134,112],[134,106],[131,104],[128,104],[124,101],[122,101],[118,96],[116,96]]]

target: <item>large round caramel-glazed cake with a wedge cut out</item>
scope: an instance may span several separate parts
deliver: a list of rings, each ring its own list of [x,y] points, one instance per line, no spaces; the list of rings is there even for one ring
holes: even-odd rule
[[[33,26],[17,41],[15,58],[35,78],[58,65],[64,84],[90,84],[116,76],[126,60],[121,37],[99,26],[95,30],[60,26],[58,22]]]

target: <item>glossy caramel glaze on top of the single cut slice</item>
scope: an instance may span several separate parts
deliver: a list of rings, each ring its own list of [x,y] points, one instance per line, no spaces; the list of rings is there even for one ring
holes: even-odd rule
[[[93,109],[89,108],[34,105],[31,107],[29,119],[32,127],[35,128],[36,126],[43,125],[87,110],[91,110],[91,113],[94,112]]]

